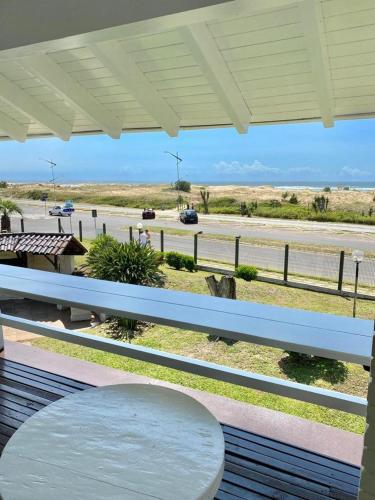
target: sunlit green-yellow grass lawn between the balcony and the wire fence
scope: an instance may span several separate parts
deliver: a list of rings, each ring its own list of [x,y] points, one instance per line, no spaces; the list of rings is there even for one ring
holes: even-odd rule
[[[168,288],[195,293],[208,293],[204,280],[205,276],[208,275],[207,273],[175,271],[167,266],[164,266],[163,270],[168,277]],[[285,307],[295,307],[339,315],[351,315],[352,302],[350,300],[316,292],[289,289],[261,282],[247,283],[243,280],[237,280],[237,294],[241,300],[251,300],[254,302],[277,304]],[[373,318],[375,310],[374,302],[358,301],[357,307],[359,317]],[[106,335],[105,326],[91,331],[96,335]],[[335,389],[359,396],[365,396],[367,391],[367,372],[361,366],[349,363],[318,359],[304,365],[294,364],[288,360],[287,354],[279,349],[244,342],[225,343],[223,341],[213,341],[205,334],[160,325],[147,327],[132,342],[163,351],[297,382],[314,384],[319,387]],[[32,343],[34,346],[43,349],[202,391],[220,394],[266,408],[280,410],[345,430],[357,433],[364,431],[363,418],[344,412],[329,410],[316,405],[226,384],[53,339],[38,338]]]

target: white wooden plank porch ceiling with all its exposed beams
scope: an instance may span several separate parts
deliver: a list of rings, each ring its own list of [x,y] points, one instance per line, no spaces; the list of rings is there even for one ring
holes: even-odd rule
[[[0,139],[375,116],[373,0],[10,4]]]

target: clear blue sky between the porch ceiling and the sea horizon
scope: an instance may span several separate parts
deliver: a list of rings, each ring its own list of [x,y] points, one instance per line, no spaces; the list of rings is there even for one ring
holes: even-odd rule
[[[70,141],[30,139],[0,143],[0,180],[46,182],[56,164],[59,183],[174,182],[176,165],[165,151],[182,158],[181,178],[192,183],[291,181],[374,182],[375,120],[164,132],[76,136]]]

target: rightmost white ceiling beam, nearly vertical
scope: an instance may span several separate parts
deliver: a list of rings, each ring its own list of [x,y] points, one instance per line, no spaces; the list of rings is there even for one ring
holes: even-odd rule
[[[303,0],[299,8],[322,122],[325,127],[333,127],[334,112],[331,75],[323,29],[321,3],[320,0]]]

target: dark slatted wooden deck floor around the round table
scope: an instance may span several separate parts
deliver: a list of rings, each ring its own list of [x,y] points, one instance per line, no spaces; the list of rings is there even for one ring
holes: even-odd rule
[[[67,394],[88,387],[0,359],[0,453],[29,416]],[[235,427],[222,427],[226,462],[217,499],[356,498],[357,467]]]

